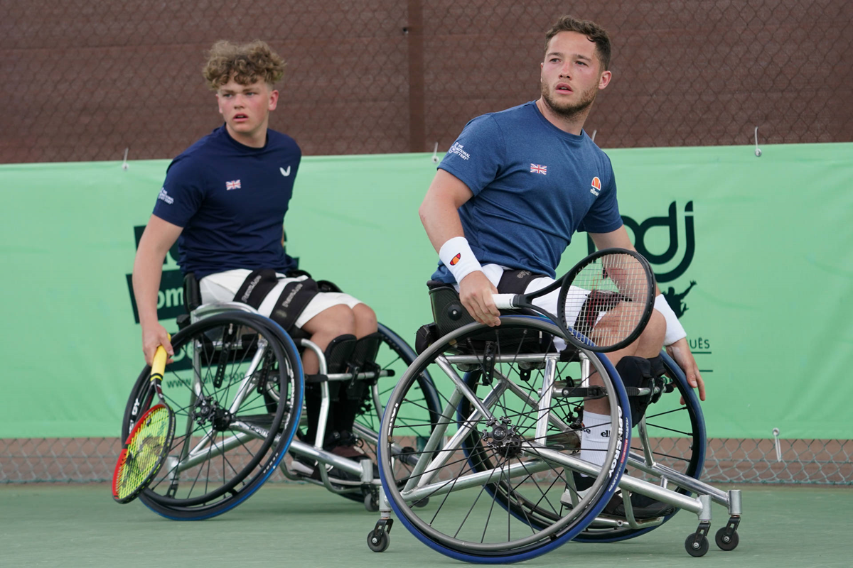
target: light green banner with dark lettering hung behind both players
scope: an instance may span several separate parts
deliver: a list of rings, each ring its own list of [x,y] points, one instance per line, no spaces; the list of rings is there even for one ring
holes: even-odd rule
[[[853,144],[607,153],[705,376],[709,435],[849,439]],[[119,434],[143,365],[128,278],[167,165],[0,166],[0,438]],[[411,342],[431,317],[437,255],[417,209],[434,169],[427,154],[305,158],[286,220],[300,267]],[[588,250],[577,235],[561,269]],[[160,314],[174,318],[172,255],[164,271]]]

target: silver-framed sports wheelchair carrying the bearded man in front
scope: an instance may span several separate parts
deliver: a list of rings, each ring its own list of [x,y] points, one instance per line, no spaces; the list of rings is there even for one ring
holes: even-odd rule
[[[420,354],[397,383],[380,427],[384,491],[369,548],[388,547],[392,512],[442,554],[504,563],[570,540],[640,536],[686,509],[699,525],[685,548],[702,556],[712,501],[729,515],[717,545],[738,545],[740,491],[699,480],[702,410],[666,353],[664,376],[625,387],[606,357],[566,346],[548,319],[508,311],[490,328],[473,322],[452,287],[430,284],[433,323],[419,330]],[[590,381],[595,373],[600,380]],[[420,402],[418,377],[427,374],[440,393],[449,393],[439,394],[438,416]],[[604,467],[579,457],[590,399],[603,401],[611,419]],[[647,404],[633,428],[632,399]],[[402,447],[415,448],[404,463]],[[659,514],[641,516],[643,500],[664,505]]]

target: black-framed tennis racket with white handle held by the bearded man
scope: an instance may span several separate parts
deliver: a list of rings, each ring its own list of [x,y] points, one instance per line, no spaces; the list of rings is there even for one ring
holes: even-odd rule
[[[556,314],[534,303],[557,289]],[[528,308],[542,313],[576,347],[608,352],[627,347],[646,328],[654,308],[654,290],[652,268],[642,255],[604,249],[542,290],[492,297],[499,309]]]

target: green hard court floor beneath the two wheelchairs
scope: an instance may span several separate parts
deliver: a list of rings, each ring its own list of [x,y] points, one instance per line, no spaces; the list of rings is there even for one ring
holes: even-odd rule
[[[683,542],[696,517],[627,542],[566,544],[525,566],[750,566],[797,568],[853,565],[853,488],[740,487],[740,546],[713,543],[694,559]],[[725,522],[714,508],[711,533]],[[463,565],[394,525],[391,546],[370,552],[376,513],[310,485],[270,484],[234,511],[200,522],[177,522],[142,504],[118,505],[107,485],[0,486],[0,566],[293,566]]]

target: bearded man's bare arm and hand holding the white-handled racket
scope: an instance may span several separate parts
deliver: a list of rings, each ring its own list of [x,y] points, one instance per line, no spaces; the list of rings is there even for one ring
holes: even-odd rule
[[[472,197],[473,193],[464,182],[444,169],[438,169],[418,209],[421,223],[436,252],[451,238],[465,236],[458,209]],[[459,283],[462,305],[481,324],[500,324],[500,312],[491,298],[496,293],[495,286],[479,270],[469,273]]]

